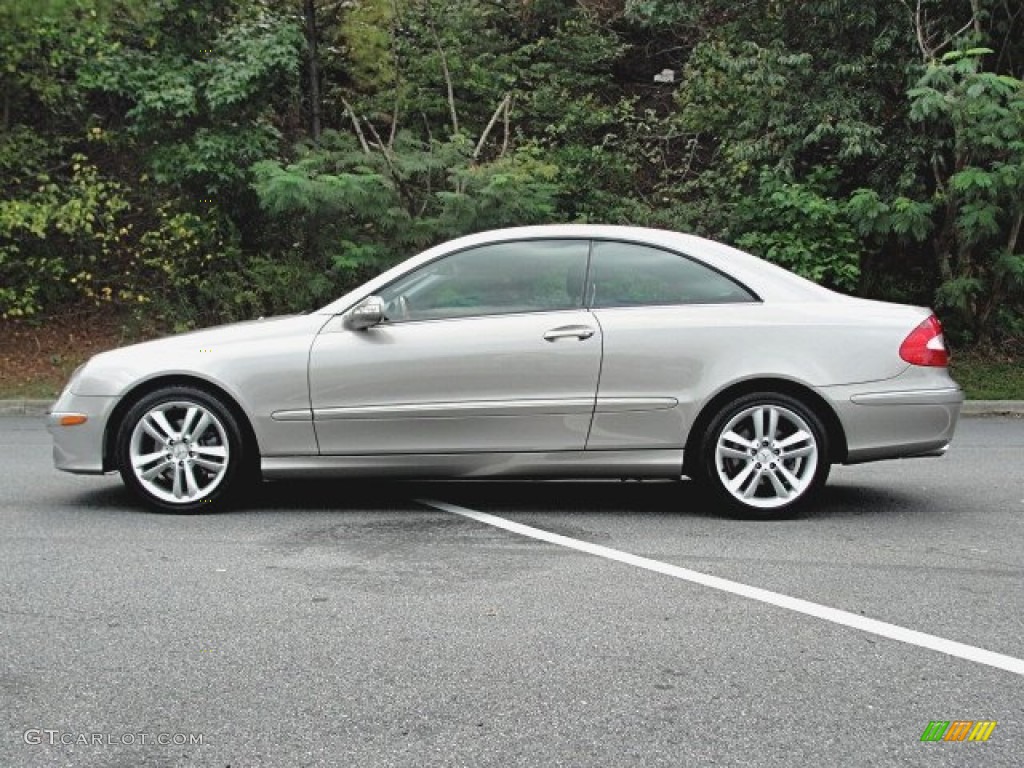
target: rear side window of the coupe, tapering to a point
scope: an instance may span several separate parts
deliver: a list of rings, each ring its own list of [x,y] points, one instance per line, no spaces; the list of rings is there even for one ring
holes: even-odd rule
[[[594,307],[732,304],[757,299],[692,259],[632,243],[598,242],[591,261]]]

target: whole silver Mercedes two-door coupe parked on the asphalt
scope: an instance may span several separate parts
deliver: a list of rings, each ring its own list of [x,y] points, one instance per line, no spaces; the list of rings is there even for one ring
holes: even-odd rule
[[[260,479],[676,478],[792,515],[833,464],[941,456],[963,393],[928,309],[700,238],[503,229],[316,311],[97,354],[48,417],[58,469],[171,512]]]

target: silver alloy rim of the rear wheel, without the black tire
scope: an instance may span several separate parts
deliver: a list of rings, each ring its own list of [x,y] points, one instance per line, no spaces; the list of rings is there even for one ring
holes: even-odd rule
[[[810,487],[818,444],[807,422],[790,409],[754,406],[732,417],[719,434],[715,465],[736,501],[772,509]]]

